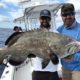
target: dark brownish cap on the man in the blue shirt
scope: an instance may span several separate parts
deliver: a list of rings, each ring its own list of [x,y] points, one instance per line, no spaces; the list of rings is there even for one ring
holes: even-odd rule
[[[61,7],[61,15],[66,13],[75,13],[75,8],[73,4],[67,3]]]

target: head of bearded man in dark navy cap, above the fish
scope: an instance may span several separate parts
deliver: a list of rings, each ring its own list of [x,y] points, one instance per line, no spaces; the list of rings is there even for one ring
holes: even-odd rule
[[[51,21],[51,13],[49,10],[42,10],[40,12],[40,28],[45,28],[49,30],[51,28],[50,21]]]

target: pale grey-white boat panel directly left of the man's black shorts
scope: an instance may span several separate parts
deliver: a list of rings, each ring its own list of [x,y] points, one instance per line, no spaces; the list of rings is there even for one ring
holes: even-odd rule
[[[22,67],[18,67],[14,73],[14,80],[32,80],[32,63],[29,61],[27,64],[23,64]]]

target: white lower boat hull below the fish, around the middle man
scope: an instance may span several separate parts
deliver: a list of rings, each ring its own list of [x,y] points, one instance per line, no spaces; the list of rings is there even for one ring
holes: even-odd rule
[[[32,60],[28,59],[23,64],[14,67],[8,63],[0,80],[32,80]],[[7,74],[6,72],[9,71]],[[59,76],[61,74],[61,64],[58,66]]]

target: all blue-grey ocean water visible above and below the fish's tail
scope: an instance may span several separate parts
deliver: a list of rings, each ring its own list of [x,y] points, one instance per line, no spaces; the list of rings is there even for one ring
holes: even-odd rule
[[[12,29],[0,28],[0,48],[5,47],[6,39],[13,33]],[[5,65],[0,64],[0,77],[5,69]]]

